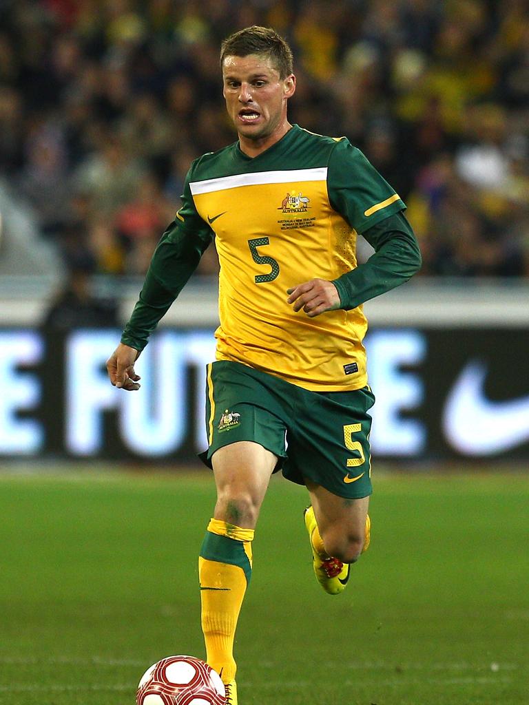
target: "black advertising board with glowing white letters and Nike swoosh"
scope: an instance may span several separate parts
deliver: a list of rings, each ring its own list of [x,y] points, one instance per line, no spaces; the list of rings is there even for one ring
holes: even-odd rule
[[[206,446],[212,329],[160,329],[138,392],[109,384],[117,329],[0,330],[0,456],[189,461]],[[529,331],[378,327],[367,334],[373,455],[529,460]]]

